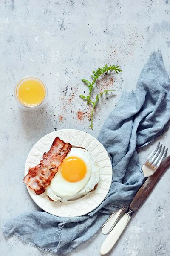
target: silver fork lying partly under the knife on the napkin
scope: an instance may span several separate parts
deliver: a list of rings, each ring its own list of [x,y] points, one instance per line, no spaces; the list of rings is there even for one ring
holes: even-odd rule
[[[162,144],[160,145],[160,142],[156,146],[156,148],[153,149],[147,160],[145,161],[144,165],[142,166],[143,171],[143,179],[150,177],[153,175],[153,173],[158,169],[160,163],[167,155],[167,150],[165,150],[165,146],[162,148]],[[105,222],[105,224],[102,226],[102,233],[108,234],[110,233],[113,228],[116,226],[119,219],[124,215],[125,210],[127,209],[127,205],[123,207],[122,209],[117,210],[116,212],[113,212],[111,216],[108,218],[108,220]]]

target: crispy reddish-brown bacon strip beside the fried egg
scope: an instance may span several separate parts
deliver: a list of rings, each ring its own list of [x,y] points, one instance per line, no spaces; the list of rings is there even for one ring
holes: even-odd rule
[[[48,153],[43,154],[40,164],[29,168],[28,174],[24,177],[24,183],[34,189],[37,195],[44,193],[71,148],[70,143],[65,143],[56,137]]]

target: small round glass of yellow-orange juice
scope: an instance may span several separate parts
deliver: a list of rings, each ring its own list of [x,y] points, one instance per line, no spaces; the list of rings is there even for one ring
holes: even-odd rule
[[[42,108],[47,101],[47,88],[35,76],[26,76],[15,87],[15,98],[20,108],[28,111]]]

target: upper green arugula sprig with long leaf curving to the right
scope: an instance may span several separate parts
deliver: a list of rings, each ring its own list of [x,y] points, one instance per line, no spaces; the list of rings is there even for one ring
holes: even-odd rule
[[[114,70],[116,73],[118,73],[118,71],[119,72],[121,72],[122,70],[119,68],[119,66],[115,66],[115,65],[111,65],[111,66],[109,66],[108,67],[108,65],[106,64],[104,67],[102,67],[102,68],[98,68],[96,71],[94,71],[93,70],[93,75],[91,75],[91,77],[92,77],[92,79],[93,79],[93,81],[92,81],[92,83],[91,82],[89,82],[88,80],[86,80],[86,79],[82,79],[82,81],[87,85],[87,87],[88,87],[88,90],[89,90],[89,94],[88,94],[88,96],[84,96],[84,95],[80,95],[80,97],[82,98],[82,99],[86,99],[87,100],[87,105],[89,105],[89,103],[90,103],[90,100],[91,100],[91,91],[92,91],[92,89],[93,89],[93,87],[94,87],[94,84],[95,84],[95,82],[96,82],[96,80],[99,78],[99,76],[101,76],[103,73],[105,73],[105,74],[108,74],[108,71],[112,71],[112,70]]]

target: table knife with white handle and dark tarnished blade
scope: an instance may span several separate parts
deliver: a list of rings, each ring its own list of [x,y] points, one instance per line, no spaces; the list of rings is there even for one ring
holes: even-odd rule
[[[127,226],[128,222],[132,218],[134,212],[136,212],[141,204],[145,201],[147,196],[152,191],[153,187],[156,185],[157,181],[163,174],[163,172],[170,166],[170,155],[167,156],[164,161],[160,164],[159,168],[154,172],[154,174],[147,178],[143,186],[139,189],[136,196],[133,198],[129,209],[125,215],[120,219],[120,221],[113,228],[111,233],[107,236],[105,241],[102,243],[100,254],[105,255],[113,248],[116,244],[116,241],[119,239],[123,230]]]

